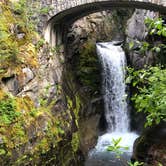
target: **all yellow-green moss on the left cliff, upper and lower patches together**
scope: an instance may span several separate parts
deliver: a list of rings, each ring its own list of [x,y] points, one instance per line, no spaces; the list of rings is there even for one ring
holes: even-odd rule
[[[0,79],[10,77],[10,71],[12,71],[12,75],[17,75],[20,78],[19,81],[22,81],[22,68],[38,66],[37,50],[33,44],[38,39],[29,22],[29,16],[25,14],[28,9],[26,9],[25,2],[24,0],[15,4],[0,2],[2,9],[0,13],[2,18],[0,20]],[[12,31],[14,29],[12,27],[17,28],[19,33],[25,36],[19,39],[17,33]],[[49,89],[50,85],[45,88],[44,92],[47,94]],[[56,89],[56,95],[61,94],[59,85]],[[72,132],[72,122],[75,120],[78,123],[79,104],[73,115],[70,109],[55,112],[53,106],[56,105],[56,100],[54,99],[50,103],[41,96],[39,99],[41,99],[40,106],[35,107],[34,102],[28,96],[15,97],[0,89],[0,138],[2,139],[0,164],[36,165],[40,161],[50,163],[59,158],[58,148],[63,156],[64,165],[74,157],[71,138],[69,140],[64,138]],[[75,107],[72,101],[69,101],[68,105],[71,109]],[[76,151],[75,137],[73,135],[72,144]],[[65,146],[61,149],[62,142]],[[65,147],[69,151],[67,154]]]

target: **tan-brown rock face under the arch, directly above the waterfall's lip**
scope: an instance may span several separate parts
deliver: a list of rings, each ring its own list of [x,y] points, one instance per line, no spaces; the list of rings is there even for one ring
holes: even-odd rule
[[[125,39],[126,22],[132,10],[94,13],[76,21],[67,34],[67,56],[72,56],[88,39],[95,42]]]

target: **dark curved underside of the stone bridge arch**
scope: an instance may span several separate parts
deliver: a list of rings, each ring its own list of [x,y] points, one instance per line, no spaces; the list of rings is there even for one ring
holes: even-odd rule
[[[164,15],[166,14],[166,6],[150,2],[104,1],[87,3],[84,5],[79,5],[70,9],[66,9],[51,17],[45,27],[45,39],[52,46],[63,44],[65,39],[65,33],[67,32],[68,27],[76,20],[95,12],[116,8],[146,9],[150,11],[157,11]]]

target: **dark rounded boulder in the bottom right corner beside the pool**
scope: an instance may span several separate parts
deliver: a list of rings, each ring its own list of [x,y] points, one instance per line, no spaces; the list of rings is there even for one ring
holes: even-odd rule
[[[132,158],[147,166],[166,163],[166,123],[146,129],[135,141]]]

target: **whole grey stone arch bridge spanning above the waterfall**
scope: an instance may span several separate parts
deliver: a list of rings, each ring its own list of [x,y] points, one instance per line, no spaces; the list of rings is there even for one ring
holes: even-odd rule
[[[166,0],[42,0],[50,6],[44,28],[44,37],[52,46],[63,43],[65,29],[77,19],[111,8],[139,8],[166,14]]]

